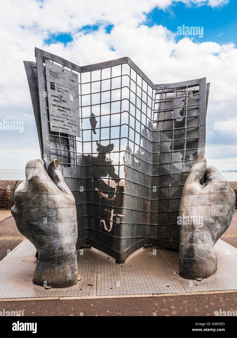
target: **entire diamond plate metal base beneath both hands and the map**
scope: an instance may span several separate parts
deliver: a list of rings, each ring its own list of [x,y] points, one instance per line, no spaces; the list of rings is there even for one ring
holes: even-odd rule
[[[124,294],[182,293],[237,289],[237,249],[218,240],[215,252],[217,272],[202,282],[176,274],[179,252],[155,248],[140,249],[125,264],[94,249],[77,251],[81,281],[74,286],[46,290],[32,283],[35,248],[27,240],[0,265],[0,298],[78,297]]]

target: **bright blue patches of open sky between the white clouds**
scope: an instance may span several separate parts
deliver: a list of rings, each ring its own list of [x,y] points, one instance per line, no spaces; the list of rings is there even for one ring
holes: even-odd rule
[[[149,13],[146,13],[146,19],[141,23],[152,27],[156,25],[162,25],[167,27],[172,32],[177,32],[177,27],[182,26],[203,26],[204,36],[202,41],[198,36],[193,36],[197,43],[214,41],[219,44],[226,44],[233,42],[237,43],[237,2],[232,0],[227,2],[221,7],[208,7],[208,6],[187,6],[184,3],[176,3],[175,5],[168,6],[165,10],[158,7],[152,9]],[[96,31],[100,26],[104,26],[104,23],[98,22],[95,25],[86,25],[78,28],[76,32],[83,31],[84,34],[88,34],[92,31]],[[106,33],[110,33],[113,24],[107,24],[104,26]],[[74,32],[56,32],[49,33],[49,37],[44,40],[46,45],[52,43],[62,42],[65,45],[73,41]],[[177,35],[176,39],[182,39],[182,36]]]

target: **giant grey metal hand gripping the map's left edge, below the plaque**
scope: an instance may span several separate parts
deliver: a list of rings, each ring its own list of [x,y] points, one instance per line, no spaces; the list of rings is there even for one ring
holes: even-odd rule
[[[60,288],[77,283],[75,199],[58,169],[58,160],[26,164],[26,181],[15,191],[11,213],[18,230],[34,244],[39,259],[33,283]]]

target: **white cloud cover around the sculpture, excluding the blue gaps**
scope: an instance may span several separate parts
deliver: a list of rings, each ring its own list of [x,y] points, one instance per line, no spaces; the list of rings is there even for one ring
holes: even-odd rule
[[[75,64],[83,60],[84,65],[128,56],[154,83],[207,77],[207,81],[211,82],[207,114],[207,149],[212,147],[211,152],[207,150],[207,156],[210,157],[215,153],[215,143],[220,143],[222,138],[223,142],[230,140],[230,149],[236,146],[236,135],[231,135],[228,139],[225,133],[213,129],[214,121],[219,118],[234,119],[237,108],[235,97],[237,50],[234,44],[195,43],[188,37],[177,42],[176,34],[166,27],[158,25],[148,27],[141,24],[146,19],[144,13],[148,13],[156,6],[165,9],[177,2],[179,0],[156,2],[121,0],[119,3],[105,0],[83,2],[68,0],[66,6],[62,0],[48,0],[46,4],[34,0],[4,2],[0,40],[1,119],[9,120],[9,116],[16,119],[16,114],[20,114],[18,116],[21,118],[18,120],[30,119],[28,126],[24,123],[27,128],[24,135],[27,135],[27,132],[32,135],[33,112],[23,60],[34,61],[34,47],[60,55]],[[191,2],[182,0],[182,2],[212,7],[226,3],[219,0]],[[86,35],[84,32],[78,32],[82,26],[98,22],[103,24],[97,31]],[[107,34],[104,30],[104,25],[108,23],[114,25],[111,34]],[[47,39],[48,35],[44,34],[44,28],[47,32],[72,32],[73,41],[66,47],[62,43],[47,46],[44,39]],[[110,49],[111,46],[115,51]],[[22,115],[24,113],[30,115]],[[34,132],[36,133],[36,129]],[[17,153],[17,149],[22,153],[22,149],[28,146],[27,142],[22,141],[20,144],[17,139],[13,139],[10,143],[1,140],[2,144],[3,142],[5,147],[11,149],[14,149],[15,144],[16,158],[21,156]],[[32,149],[39,154],[37,137],[31,139],[30,150],[26,152],[31,155]],[[1,156],[10,157],[6,154]],[[236,169],[236,159],[231,153],[229,161],[223,160],[223,156],[218,156],[219,161],[228,164],[228,169]],[[7,161],[1,161],[1,165],[3,168],[7,165],[9,168],[17,166],[12,161],[12,157],[8,158]],[[24,169],[24,165],[24,160],[21,160],[21,169]]]

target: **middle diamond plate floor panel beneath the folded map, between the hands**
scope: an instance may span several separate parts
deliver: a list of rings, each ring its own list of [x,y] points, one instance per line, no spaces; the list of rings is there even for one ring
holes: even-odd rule
[[[185,292],[159,249],[139,249],[116,264],[115,259],[98,251],[97,296]]]

